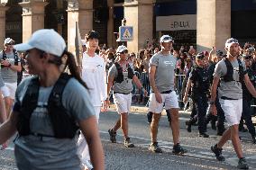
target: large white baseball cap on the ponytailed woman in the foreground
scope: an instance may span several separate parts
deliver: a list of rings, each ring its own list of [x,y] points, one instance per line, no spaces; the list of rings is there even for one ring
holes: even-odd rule
[[[53,29],[41,29],[32,33],[32,37],[26,43],[14,45],[18,51],[40,49],[46,53],[61,57],[66,49],[65,40]]]

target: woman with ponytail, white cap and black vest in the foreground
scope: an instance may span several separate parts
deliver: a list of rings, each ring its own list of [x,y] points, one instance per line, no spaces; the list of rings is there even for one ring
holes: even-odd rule
[[[0,126],[0,144],[18,131],[14,141],[18,169],[83,169],[78,129],[87,139],[94,169],[105,169],[87,85],[63,38],[56,31],[39,30],[15,49],[28,53],[28,71],[34,75],[18,86],[13,112]],[[66,67],[70,75],[64,73]]]

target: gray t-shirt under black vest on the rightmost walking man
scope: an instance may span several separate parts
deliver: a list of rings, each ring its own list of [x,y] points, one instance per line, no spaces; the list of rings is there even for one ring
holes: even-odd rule
[[[218,87],[218,96],[228,97],[232,99],[242,99],[242,85],[239,82],[239,64],[237,59],[231,61],[233,66],[233,80],[231,82],[224,82],[220,80],[220,86]],[[246,70],[245,63],[242,61],[243,71]],[[214,76],[223,77],[227,73],[227,67],[224,59],[219,61],[215,66]]]

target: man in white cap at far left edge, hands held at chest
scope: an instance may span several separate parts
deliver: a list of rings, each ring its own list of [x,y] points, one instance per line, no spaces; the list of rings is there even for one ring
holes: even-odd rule
[[[17,88],[17,72],[22,70],[21,60],[17,51],[14,49],[14,40],[5,39],[5,49],[0,52],[1,74],[5,82],[5,86],[1,87],[5,98],[5,107],[7,118],[14,103],[14,94]]]

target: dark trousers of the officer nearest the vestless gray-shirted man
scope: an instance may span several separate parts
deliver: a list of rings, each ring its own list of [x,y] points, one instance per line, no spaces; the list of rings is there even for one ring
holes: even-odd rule
[[[195,101],[195,106],[197,109],[197,119],[198,119],[198,130],[200,133],[206,132],[206,111],[208,107],[207,96],[198,96]]]

